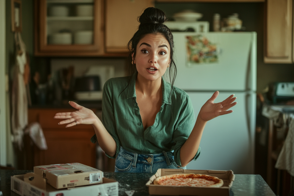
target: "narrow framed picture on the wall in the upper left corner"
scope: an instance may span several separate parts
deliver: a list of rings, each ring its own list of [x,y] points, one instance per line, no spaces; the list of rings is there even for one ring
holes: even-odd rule
[[[21,0],[11,0],[11,28],[21,32]]]

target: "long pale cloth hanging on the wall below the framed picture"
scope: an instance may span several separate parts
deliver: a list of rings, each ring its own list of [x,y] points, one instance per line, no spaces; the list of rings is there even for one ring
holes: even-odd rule
[[[24,128],[28,124],[28,100],[24,84],[24,66],[26,64],[26,46],[21,39],[20,33],[15,33],[16,64],[14,66],[12,90],[11,90],[11,130],[14,142],[19,149],[23,147]]]

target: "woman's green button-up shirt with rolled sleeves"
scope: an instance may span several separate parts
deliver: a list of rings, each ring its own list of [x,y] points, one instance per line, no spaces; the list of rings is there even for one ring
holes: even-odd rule
[[[129,85],[128,77],[118,77],[109,79],[103,87],[102,123],[116,142],[116,154],[111,158],[116,157],[120,147],[138,154],[174,150],[174,160],[181,166],[180,150],[195,124],[190,97],[177,87],[173,87],[170,96],[171,84],[161,79],[161,108],[154,124],[144,130],[136,102],[137,73],[132,75]],[[91,141],[97,141],[96,135]],[[200,147],[194,160],[199,154]]]

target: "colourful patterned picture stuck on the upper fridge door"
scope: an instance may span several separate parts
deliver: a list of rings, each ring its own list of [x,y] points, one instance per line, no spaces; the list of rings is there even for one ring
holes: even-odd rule
[[[186,36],[187,65],[218,62],[218,47],[202,34]]]

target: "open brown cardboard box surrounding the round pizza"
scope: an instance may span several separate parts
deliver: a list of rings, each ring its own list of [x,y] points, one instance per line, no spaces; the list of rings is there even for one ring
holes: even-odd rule
[[[172,174],[206,174],[223,180],[222,187],[190,187],[190,186],[164,186],[154,185],[153,181],[160,176]],[[183,169],[158,169],[146,183],[150,195],[198,195],[198,196],[229,196],[230,187],[233,185],[235,175],[232,170],[183,170]]]

